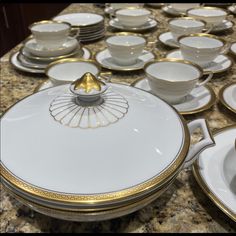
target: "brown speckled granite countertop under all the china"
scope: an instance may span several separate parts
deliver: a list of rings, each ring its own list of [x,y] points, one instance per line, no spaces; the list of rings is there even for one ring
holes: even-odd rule
[[[92,4],[71,4],[60,14],[75,12],[95,12],[103,14],[103,9]],[[158,28],[145,33],[149,41],[154,41],[160,32],[167,31],[169,16],[160,9],[153,9]],[[234,18],[234,21],[235,18]],[[108,18],[106,18],[106,23]],[[107,27],[107,35],[112,29]],[[220,34],[227,41],[236,39],[236,30]],[[104,40],[86,45],[93,53],[105,47]],[[148,47],[153,47],[149,44]],[[1,58],[0,115],[34,89],[47,78],[15,70],[9,63],[9,55],[19,49],[17,45]],[[162,57],[169,49],[157,42],[154,52]],[[131,83],[144,77],[141,72],[113,73],[112,81]],[[216,95],[225,84],[236,81],[236,64],[227,72],[214,75],[209,83]],[[204,117],[211,131],[236,123],[236,117],[223,108],[218,101],[209,110],[185,116],[190,121]],[[197,135],[194,136],[194,139]],[[130,215],[113,220],[79,223],[54,219],[30,210],[11,197],[1,186],[0,229],[4,232],[236,232],[236,223],[227,217],[203,193],[197,184],[191,168],[179,173],[171,187],[145,208]]]

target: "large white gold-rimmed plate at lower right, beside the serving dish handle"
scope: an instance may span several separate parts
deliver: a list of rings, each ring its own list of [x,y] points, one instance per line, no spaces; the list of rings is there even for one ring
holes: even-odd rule
[[[193,173],[204,193],[236,222],[235,137],[235,125],[217,131],[214,134],[216,145],[199,155]]]

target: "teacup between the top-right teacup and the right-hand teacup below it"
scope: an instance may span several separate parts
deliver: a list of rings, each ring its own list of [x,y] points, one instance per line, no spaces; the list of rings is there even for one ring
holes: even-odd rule
[[[191,17],[180,17],[168,21],[169,29],[176,41],[178,37],[186,34],[209,32],[211,28],[206,29],[206,22]]]

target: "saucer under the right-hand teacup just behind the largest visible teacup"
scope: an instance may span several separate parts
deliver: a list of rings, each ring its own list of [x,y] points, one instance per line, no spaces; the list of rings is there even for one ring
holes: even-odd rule
[[[183,59],[181,51],[179,49],[173,50],[166,55],[166,58]],[[226,55],[219,55],[208,65],[203,68],[203,71],[211,71],[212,73],[220,73],[228,70],[233,65],[232,59]]]

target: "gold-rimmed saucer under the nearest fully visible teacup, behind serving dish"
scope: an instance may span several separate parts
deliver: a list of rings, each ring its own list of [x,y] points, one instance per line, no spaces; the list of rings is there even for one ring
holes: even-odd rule
[[[153,93],[147,78],[139,79],[132,83],[131,86]],[[175,107],[181,115],[190,115],[209,109],[214,105],[215,100],[216,96],[214,91],[209,86],[205,85],[194,88],[191,93],[186,96],[185,101],[172,106]]]

